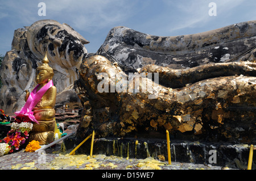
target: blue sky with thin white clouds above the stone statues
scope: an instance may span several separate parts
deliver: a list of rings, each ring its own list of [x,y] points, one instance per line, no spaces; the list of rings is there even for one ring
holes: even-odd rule
[[[46,3],[46,16],[39,16],[39,2]],[[216,16],[209,16],[209,3],[216,3]],[[95,53],[115,26],[156,36],[204,32],[230,24],[256,20],[255,0],[0,0],[0,54],[11,50],[14,30],[36,20],[67,23],[90,43]]]

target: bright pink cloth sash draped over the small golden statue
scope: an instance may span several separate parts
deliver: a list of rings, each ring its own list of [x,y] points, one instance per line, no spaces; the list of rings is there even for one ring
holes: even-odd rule
[[[20,111],[15,112],[15,115],[18,116],[22,114],[22,115],[28,116],[31,121],[38,123],[38,121],[35,119],[34,112],[32,110],[34,109],[36,104],[38,104],[39,100],[42,99],[44,93],[46,93],[46,91],[52,86],[53,86],[53,83],[51,80],[46,85],[44,85],[38,92],[36,92],[36,90],[39,87],[39,85],[37,85],[35,89],[33,89],[32,92],[30,93],[30,96],[28,97],[24,107]]]

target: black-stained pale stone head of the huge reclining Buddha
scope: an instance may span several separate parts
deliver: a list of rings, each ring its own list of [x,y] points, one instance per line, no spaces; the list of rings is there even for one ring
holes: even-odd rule
[[[27,43],[31,52],[40,60],[47,48],[49,61],[55,61],[61,68],[79,68],[87,54],[84,44],[89,41],[68,24],[55,20],[39,20],[27,28]]]

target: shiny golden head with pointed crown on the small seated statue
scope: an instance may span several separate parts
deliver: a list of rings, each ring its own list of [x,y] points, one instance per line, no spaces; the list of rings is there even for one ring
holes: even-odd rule
[[[51,81],[54,73],[53,69],[48,65],[48,58],[47,55],[43,58],[43,64],[36,68],[36,83],[43,85]]]

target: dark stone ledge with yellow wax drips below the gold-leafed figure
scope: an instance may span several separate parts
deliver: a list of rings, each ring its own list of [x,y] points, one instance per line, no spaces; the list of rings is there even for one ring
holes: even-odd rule
[[[138,140],[138,145],[135,141]],[[73,150],[82,140],[76,136],[69,137],[64,141],[66,150]],[[210,150],[216,150],[216,163]],[[234,169],[247,169],[250,145],[229,144],[229,143],[209,143],[209,142],[189,142],[171,140],[171,160],[173,162],[186,162],[204,164],[208,166],[228,166]],[[90,153],[90,139],[79,149],[77,154]],[[167,145],[166,140],[161,139],[134,139],[134,138],[98,138],[94,140],[93,154],[115,155],[118,157],[129,157],[144,159],[152,157],[158,159],[160,155],[166,161]],[[256,150],[254,149],[254,154]],[[253,167],[256,166],[256,157],[253,158]]]

